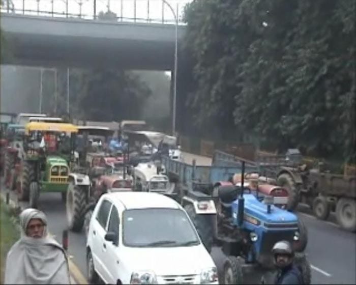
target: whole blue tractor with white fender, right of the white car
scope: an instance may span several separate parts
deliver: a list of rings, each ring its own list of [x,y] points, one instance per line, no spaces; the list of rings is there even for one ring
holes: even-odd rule
[[[243,161],[242,177],[244,172]],[[277,241],[287,240],[296,251],[295,263],[304,283],[310,284],[305,247],[297,246],[301,235],[298,216],[274,206],[272,196],[261,201],[245,185],[244,179],[241,185],[212,191],[206,190],[207,185],[195,185],[182,200],[205,247],[211,250],[214,244],[226,255],[223,283],[245,284],[244,272],[251,270],[254,275],[271,276],[275,271],[272,248]]]

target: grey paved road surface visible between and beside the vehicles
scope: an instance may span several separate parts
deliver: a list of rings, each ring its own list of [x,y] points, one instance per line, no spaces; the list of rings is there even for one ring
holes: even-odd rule
[[[3,190],[4,191],[4,190]],[[11,198],[15,200],[14,193]],[[58,193],[46,193],[40,197],[40,208],[47,214],[49,231],[61,242],[66,229],[65,206]],[[355,284],[356,235],[339,229],[332,222],[318,221],[308,214],[299,214],[309,231],[307,253],[312,264],[313,284]],[[69,233],[69,253],[84,276],[85,236],[83,233]],[[212,257],[219,270],[222,269],[224,254],[214,248]]]

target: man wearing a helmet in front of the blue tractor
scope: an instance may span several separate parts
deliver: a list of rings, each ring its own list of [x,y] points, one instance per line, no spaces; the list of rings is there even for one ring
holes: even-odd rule
[[[288,241],[277,242],[272,254],[279,269],[274,284],[304,284],[301,271],[293,264],[294,252]]]

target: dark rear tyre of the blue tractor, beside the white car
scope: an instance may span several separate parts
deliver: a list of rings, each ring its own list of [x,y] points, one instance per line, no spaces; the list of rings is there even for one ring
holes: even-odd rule
[[[211,215],[199,215],[195,213],[194,206],[187,204],[184,209],[192,220],[199,236],[207,251],[211,252],[213,247],[213,221]]]

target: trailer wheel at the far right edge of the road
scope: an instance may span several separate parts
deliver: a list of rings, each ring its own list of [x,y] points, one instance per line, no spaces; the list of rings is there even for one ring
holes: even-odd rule
[[[336,204],[336,218],[344,230],[356,232],[356,201],[341,198]]]

